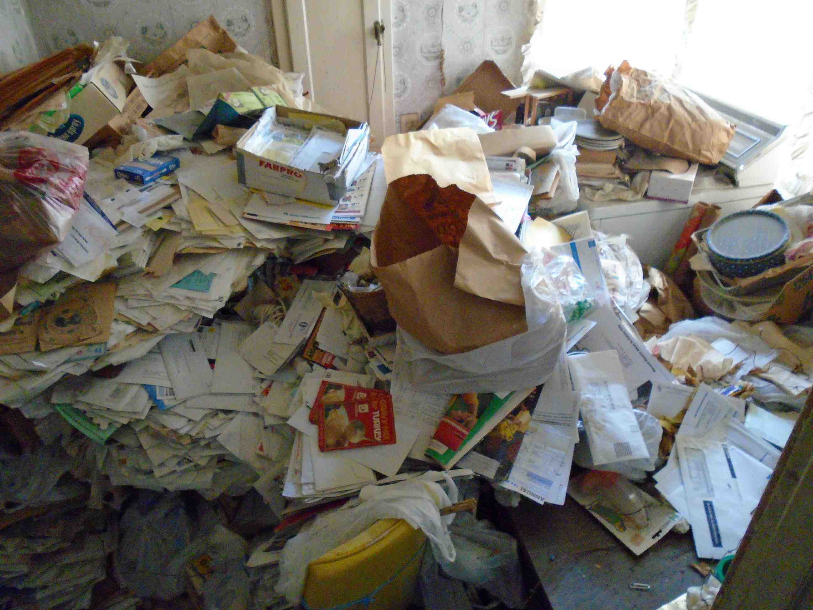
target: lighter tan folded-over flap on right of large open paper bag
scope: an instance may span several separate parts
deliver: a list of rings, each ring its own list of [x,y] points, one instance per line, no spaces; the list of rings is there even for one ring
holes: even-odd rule
[[[476,199],[460,241],[454,285],[483,298],[524,306],[520,271],[527,254],[496,212]]]

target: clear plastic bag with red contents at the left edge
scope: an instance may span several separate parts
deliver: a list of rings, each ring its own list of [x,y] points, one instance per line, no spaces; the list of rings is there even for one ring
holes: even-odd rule
[[[36,133],[0,133],[0,272],[63,241],[85,193],[88,149]]]

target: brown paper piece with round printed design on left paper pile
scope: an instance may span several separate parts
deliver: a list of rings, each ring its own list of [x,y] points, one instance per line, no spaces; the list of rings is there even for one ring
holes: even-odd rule
[[[110,338],[116,285],[80,284],[42,310],[40,351],[58,347],[104,343]]]

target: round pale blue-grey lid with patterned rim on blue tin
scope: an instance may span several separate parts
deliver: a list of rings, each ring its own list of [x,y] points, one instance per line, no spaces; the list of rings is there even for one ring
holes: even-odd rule
[[[729,260],[761,259],[784,248],[790,238],[785,220],[764,210],[738,211],[711,225],[706,243]]]

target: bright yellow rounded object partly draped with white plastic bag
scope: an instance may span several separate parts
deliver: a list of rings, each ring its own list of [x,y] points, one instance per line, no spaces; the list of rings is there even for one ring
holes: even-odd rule
[[[426,536],[402,519],[376,521],[311,561],[302,599],[311,610],[405,610]]]

